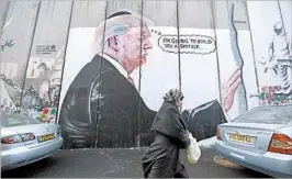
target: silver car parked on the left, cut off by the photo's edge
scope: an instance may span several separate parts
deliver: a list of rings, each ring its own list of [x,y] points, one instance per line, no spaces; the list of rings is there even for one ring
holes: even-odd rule
[[[60,127],[22,114],[0,114],[1,170],[18,168],[53,155],[63,146]]]

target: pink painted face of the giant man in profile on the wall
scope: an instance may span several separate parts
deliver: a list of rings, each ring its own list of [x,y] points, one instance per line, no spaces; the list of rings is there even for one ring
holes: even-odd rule
[[[150,32],[146,24],[143,27],[128,27],[125,34],[108,40],[110,49],[104,53],[117,59],[131,74],[147,61],[148,49],[153,48],[149,37]]]

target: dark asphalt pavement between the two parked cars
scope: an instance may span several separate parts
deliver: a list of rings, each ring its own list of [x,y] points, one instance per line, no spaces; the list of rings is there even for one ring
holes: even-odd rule
[[[269,178],[242,167],[228,167],[214,161],[218,155],[214,148],[201,148],[202,156],[195,166],[181,163],[190,178]],[[143,178],[141,165],[144,149],[78,149],[59,150],[41,161],[1,172],[2,178]],[[215,159],[218,160],[218,159]]]

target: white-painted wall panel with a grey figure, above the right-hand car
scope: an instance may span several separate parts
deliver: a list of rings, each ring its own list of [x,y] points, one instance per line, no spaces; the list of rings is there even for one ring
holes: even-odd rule
[[[287,103],[292,89],[289,69],[291,56],[283,29],[281,5],[278,1],[248,1],[247,7],[260,104]]]

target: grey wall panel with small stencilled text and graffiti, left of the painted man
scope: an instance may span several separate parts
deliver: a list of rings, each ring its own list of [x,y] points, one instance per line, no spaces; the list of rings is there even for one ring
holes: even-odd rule
[[[71,7],[71,1],[41,2],[22,104],[37,108],[35,115],[44,122],[56,120]]]

